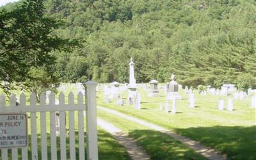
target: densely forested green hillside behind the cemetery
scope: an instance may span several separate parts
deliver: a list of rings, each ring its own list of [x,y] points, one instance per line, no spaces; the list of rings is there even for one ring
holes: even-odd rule
[[[200,9],[200,5],[204,4]],[[62,38],[83,40],[55,52],[63,82],[151,79],[256,87],[256,1],[47,0],[46,13],[65,22]]]

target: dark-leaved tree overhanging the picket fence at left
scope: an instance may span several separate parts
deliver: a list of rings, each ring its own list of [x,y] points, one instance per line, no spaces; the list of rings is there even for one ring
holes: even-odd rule
[[[70,51],[77,43],[54,34],[62,22],[46,17],[44,9],[42,0],[22,1],[8,11],[0,9],[0,81],[31,86],[26,82],[33,81],[35,68],[44,74],[52,72],[56,59],[52,51]]]

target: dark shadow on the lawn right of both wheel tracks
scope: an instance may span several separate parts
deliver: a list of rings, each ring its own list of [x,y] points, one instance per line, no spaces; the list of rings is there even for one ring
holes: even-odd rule
[[[256,126],[214,126],[175,129],[183,136],[221,150],[228,159],[256,159]]]

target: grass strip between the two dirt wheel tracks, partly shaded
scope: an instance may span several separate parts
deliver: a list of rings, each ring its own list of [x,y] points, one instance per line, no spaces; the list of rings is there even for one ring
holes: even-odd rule
[[[115,115],[98,109],[98,116],[126,132],[150,155],[151,159],[205,159],[180,141],[147,127],[134,124]]]

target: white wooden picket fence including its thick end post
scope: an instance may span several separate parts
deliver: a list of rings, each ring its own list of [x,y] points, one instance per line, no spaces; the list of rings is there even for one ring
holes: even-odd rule
[[[65,104],[65,95],[59,95],[59,104],[55,104],[55,95],[51,93],[49,104],[45,104],[45,94],[40,95],[40,104],[36,104],[35,93],[30,95],[30,105],[26,105],[26,96],[20,95],[20,105],[16,106],[16,97],[10,97],[10,106],[6,106],[4,95],[0,96],[0,113],[30,113],[30,134],[31,134],[31,158],[28,158],[28,147],[21,148],[22,159],[38,159],[38,141],[36,134],[36,113],[40,113],[40,137],[41,137],[41,158],[58,159],[57,146],[60,147],[60,159],[67,159],[67,149],[69,149],[69,159],[85,159],[84,157],[84,111],[86,111],[86,143],[87,159],[98,159],[97,147],[97,115],[96,115],[96,86],[97,83],[88,81],[86,86],[86,101],[83,102],[83,94],[77,95],[77,104],[74,103],[74,94],[68,94],[68,104]],[[60,144],[56,141],[56,111],[60,113]],[[78,112],[78,140],[79,157],[76,157],[76,132],[75,113]],[[51,147],[47,147],[47,112],[50,115]],[[66,128],[66,113],[68,113],[68,128]],[[38,120],[39,121],[39,120]],[[67,137],[67,133],[69,134]],[[66,140],[69,139],[69,148],[66,148]],[[10,159],[8,148],[2,148],[0,159]],[[12,159],[18,159],[18,148],[12,148]],[[51,150],[51,157],[47,156],[47,151]]]

